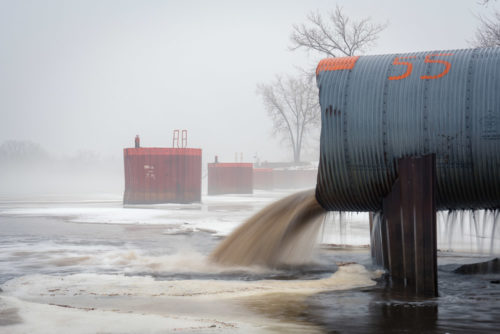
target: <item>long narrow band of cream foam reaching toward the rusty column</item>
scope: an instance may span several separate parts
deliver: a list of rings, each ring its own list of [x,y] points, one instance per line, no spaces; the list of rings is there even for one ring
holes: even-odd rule
[[[315,280],[174,280],[157,281],[150,276],[75,274],[27,275],[2,285],[3,294],[41,301],[51,296],[143,296],[236,298],[268,293],[314,294],[375,284],[379,273],[359,264],[339,267],[330,277]]]

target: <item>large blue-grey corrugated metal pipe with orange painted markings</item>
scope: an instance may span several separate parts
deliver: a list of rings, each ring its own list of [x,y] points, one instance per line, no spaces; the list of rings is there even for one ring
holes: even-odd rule
[[[381,210],[397,159],[430,153],[438,209],[500,207],[500,48],[342,59],[317,71],[323,207]]]

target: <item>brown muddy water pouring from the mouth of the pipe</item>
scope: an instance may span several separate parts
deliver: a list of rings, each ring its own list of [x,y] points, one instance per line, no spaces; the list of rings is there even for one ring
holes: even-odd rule
[[[290,195],[250,217],[210,259],[238,266],[304,263],[310,259],[325,213],[314,189]]]

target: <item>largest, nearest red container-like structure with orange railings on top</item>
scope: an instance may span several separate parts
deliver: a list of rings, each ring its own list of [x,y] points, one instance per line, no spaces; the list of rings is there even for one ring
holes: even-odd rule
[[[123,204],[201,201],[201,149],[126,148]]]

